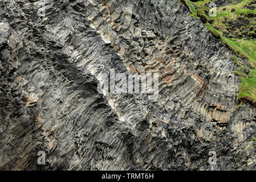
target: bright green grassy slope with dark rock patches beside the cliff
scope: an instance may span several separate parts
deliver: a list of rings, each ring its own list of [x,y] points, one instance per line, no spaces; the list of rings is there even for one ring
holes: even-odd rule
[[[189,7],[191,16],[200,17],[210,32],[233,50],[231,57],[237,64],[234,73],[242,78],[238,101],[256,106],[256,1],[182,2]],[[246,62],[239,61],[236,55]]]

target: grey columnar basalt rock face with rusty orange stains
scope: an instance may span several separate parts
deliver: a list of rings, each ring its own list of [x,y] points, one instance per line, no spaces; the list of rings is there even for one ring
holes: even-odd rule
[[[182,2],[0,6],[0,169],[256,169],[256,109],[237,107],[232,52]],[[157,100],[99,92],[111,70],[159,73]]]

